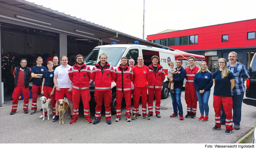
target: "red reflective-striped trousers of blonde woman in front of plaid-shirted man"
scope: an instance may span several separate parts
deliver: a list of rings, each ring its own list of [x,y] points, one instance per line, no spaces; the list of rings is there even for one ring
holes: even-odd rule
[[[222,97],[213,95],[213,108],[215,111],[215,126],[221,127],[221,105],[223,105],[226,115],[226,129],[233,130],[232,118],[232,97]]]

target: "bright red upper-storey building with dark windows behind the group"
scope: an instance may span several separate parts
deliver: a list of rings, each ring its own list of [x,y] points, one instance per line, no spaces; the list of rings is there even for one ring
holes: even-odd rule
[[[211,72],[217,71],[218,58],[228,60],[235,51],[237,61],[246,67],[256,52],[256,19],[148,35],[147,40],[173,49],[204,55]]]

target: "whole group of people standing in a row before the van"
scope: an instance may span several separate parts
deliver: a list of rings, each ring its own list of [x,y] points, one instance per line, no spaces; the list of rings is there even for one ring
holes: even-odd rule
[[[58,57],[53,58],[53,62],[47,63],[46,67],[42,66],[42,58],[38,57],[37,65],[32,67],[32,70],[27,67],[27,60],[21,59],[20,66],[15,67],[15,88],[13,93],[13,105],[10,114],[16,113],[18,97],[20,93],[24,96],[24,113],[28,113],[28,97],[29,97],[29,81],[33,78],[32,85],[32,108],[31,113],[34,114],[37,110],[37,96],[41,94],[47,98],[51,98],[53,105],[53,122],[59,119],[59,99],[64,99],[66,95],[71,115],[70,124],[78,121],[79,103],[82,98],[84,106],[84,116],[88,123],[92,123],[90,119],[90,91],[89,82],[93,80],[95,83],[95,120],[93,124],[97,124],[101,120],[101,106],[104,100],[105,119],[107,124],[111,124],[111,105],[112,93],[111,82],[116,82],[116,119],[118,122],[121,119],[121,103],[123,97],[126,102],[126,121],[136,120],[139,113],[139,100],[142,100],[142,118],[150,120],[153,116],[153,99],[156,98],[155,114],[160,118],[160,104],[161,104],[161,89],[162,82],[165,80],[165,72],[163,67],[158,64],[159,57],[153,56],[151,58],[152,64],[148,67],[143,65],[143,57],[137,58],[138,64],[134,66],[134,60],[129,60],[127,65],[127,58],[121,58],[121,64],[113,68],[107,62],[107,55],[102,53],[99,56],[99,62],[91,70],[90,67],[84,64],[82,55],[76,56],[76,63],[74,66],[68,65],[68,58],[62,56],[61,65],[58,65]],[[249,78],[246,67],[237,62],[237,53],[229,53],[229,62],[224,58],[218,60],[219,70],[213,74],[208,70],[207,63],[202,61],[200,66],[195,65],[195,57],[189,57],[189,66],[185,69],[182,67],[182,60],[176,61],[176,68],[174,69],[174,62],[169,62],[168,80],[170,94],[172,98],[173,114],[170,117],[180,116],[183,118],[183,108],[181,103],[181,91],[183,88],[183,81],[186,78],[185,85],[185,101],[187,104],[186,118],[196,118],[197,101],[199,102],[199,109],[201,116],[198,120],[207,121],[209,113],[209,97],[211,87],[214,83],[213,93],[213,107],[215,111],[215,126],[212,130],[221,128],[221,124],[226,125],[225,134],[230,134],[234,129],[240,129],[241,121],[241,105],[245,91],[244,81]],[[25,87],[25,88],[24,88]],[[148,103],[147,103],[148,91]],[[131,117],[131,97],[133,97],[134,105],[132,108]],[[147,105],[148,106],[147,106]],[[148,113],[147,113],[148,108]],[[233,116],[232,116],[233,108]],[[46,116],[46,113],[43,115]]]

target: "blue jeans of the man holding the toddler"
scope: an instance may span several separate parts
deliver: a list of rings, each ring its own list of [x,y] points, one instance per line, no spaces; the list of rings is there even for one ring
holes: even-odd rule
[[[178,110],[179,110],[179,115],[183,114],[183,108],[181,104],[181,89],[174,88],[173,90],[175,93],[170,92],[172,97],[173,112],[174,114],[178,114]]]

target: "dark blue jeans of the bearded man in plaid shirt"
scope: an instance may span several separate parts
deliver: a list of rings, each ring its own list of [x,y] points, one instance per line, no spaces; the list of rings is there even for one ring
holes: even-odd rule
[[[241,122],[241,109],[242,109],[243,97],[244,97],[244,92],[240,95],[232,96],[234,125],[240,125],[240,122]],[[224,123],[226,122],[226,115],[223,107],[221,108],[221,121]]]

